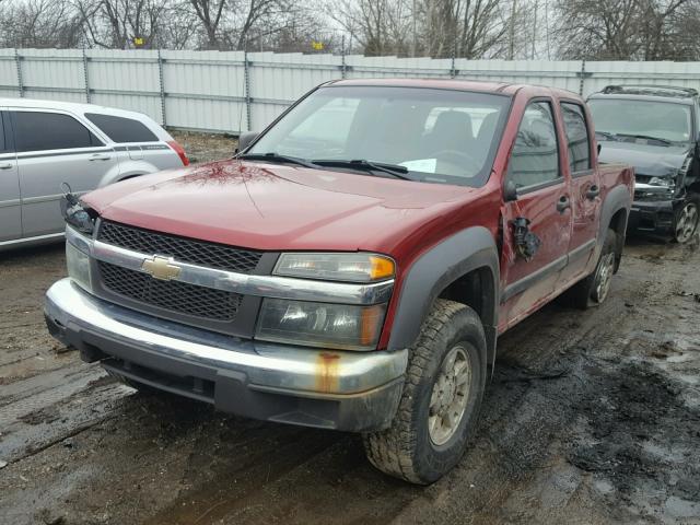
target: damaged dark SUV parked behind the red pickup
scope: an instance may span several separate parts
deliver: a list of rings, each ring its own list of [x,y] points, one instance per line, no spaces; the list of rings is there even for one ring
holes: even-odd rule
[[[629,228],[686,243],[700,217],[698,92],[608,85],[588,97],[602,162],[637,173]]]

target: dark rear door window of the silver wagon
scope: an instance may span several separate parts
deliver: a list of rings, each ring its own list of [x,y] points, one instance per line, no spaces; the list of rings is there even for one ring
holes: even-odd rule
[[[61,113],[12,110],[18,153],[104,145],[85,126]]]

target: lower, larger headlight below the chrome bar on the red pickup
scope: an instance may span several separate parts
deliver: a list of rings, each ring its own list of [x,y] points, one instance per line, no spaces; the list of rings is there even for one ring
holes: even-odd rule
[[[256,339],[348,350],[376,348],[386,304],[262,300]]]

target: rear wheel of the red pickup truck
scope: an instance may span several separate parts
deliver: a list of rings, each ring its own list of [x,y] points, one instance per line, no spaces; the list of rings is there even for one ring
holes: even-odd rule
[[[606,300],[615,273],[616,247],[617,234],[615,230],[608,229],[595,270],[561,295],[564,303],[575,308],[587,310]]]

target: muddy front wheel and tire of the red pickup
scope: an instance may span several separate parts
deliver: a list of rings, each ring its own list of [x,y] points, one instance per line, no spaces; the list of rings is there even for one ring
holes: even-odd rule
[[[470,307],[439,299],[409,349],[392,427],[363,435],[370,463],[417,485],[436,481],[462,458],[485,386],[486,338]]]

